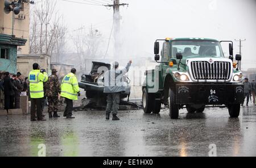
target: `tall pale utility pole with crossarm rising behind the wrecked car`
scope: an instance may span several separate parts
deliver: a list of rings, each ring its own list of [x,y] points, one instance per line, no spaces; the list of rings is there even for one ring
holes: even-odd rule
[[[114,0],[113,5],[104,5],[106,7],[113,7],[113,27],[114,27],[114,58],[118,58],[121,54],[122,41],[120,36],[120,20],[122,16],[119,13],[120,6],[128,6],[127,3],[120,3],[119,0]]]

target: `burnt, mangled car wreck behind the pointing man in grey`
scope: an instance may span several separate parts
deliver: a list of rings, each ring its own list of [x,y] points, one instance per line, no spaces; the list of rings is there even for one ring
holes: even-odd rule
[[[82,104],[85,108],[105,108],[106,94],[104,94],[104,74],[110,70],[111,65],[104,62],[92,62],[92,69],[89,74],[81,76],[79,87],[85,90],[85,98],[82,99]],[[121,93],[120,104],[138,107],[137,104],[129,102],[131,86],[130,79],[125,75],[123,78],[126,89]],[[127,98],[127,100],[124,100]]]

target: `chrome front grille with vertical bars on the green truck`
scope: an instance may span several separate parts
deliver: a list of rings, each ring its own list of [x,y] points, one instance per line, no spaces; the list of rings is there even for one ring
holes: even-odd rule
[[[191,70],[194,79],[222,79],[230,77],[232,66],[230,62],[215,61],[210,64],[208,61],[192,61]]]

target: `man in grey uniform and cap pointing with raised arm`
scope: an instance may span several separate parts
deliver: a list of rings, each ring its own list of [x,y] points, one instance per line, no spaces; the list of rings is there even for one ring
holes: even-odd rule
[[[131,66],[131,60],[124,69],[118,69],[118,62],[113,63],[112,69],[108,70],[104,74],[104,93],[107,95],[107,106],[106,106],[106,120],[109,120],[110,112],[112,111],[112,120],[119,120],[117,117],[117,111],[120,101],[120,93],[125,91],[123,86],[123,75],[125,75]]]

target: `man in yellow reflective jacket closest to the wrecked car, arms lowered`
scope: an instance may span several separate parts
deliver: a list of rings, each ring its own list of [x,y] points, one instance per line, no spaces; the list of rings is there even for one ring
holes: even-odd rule
[[[80,96],[79,86],[76,78],[76,69],[72,68],[71,73],[64,76],[61,83],[61,97],[65,98],[65,102],[67,104],[64,114],[64,117],[67,118],[75,118],[72,117],[73,110],[73,100],[77,100],[77,95]]]

